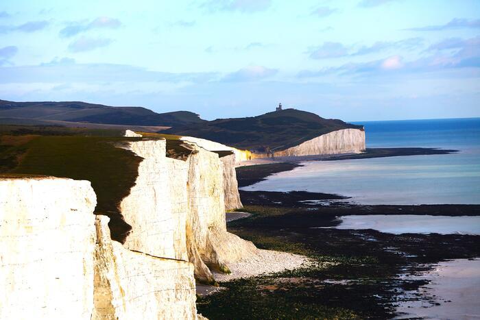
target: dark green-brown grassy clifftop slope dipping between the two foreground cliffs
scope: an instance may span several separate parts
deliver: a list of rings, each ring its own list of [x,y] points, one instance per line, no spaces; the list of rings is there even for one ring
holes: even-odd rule
[[[78,130],[63,129],[71,135],[59,136],[58,128],[53,127],[42,128],[46,130],[43,136],[0,136],[0,174],[90,181],[97,194],[95,214],[110,217],[112,239],[125,241],[131,227],[123,221],[119,204],[134,186],[142,158],[118,146],[141,138],[82,136]]]

